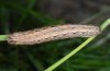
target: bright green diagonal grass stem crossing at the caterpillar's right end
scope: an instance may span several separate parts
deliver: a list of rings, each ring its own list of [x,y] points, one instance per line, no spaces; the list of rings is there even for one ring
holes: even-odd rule
[[[100,26],[101,31],[103,31],[107,26],[110,25],[110,19],[106,20],[105,23],[102,23],[102,25]],[[66,55],[64,58],[62,58],[61,60],[56,61],[54,64],[52,64],[51,67],[48,67],[47,69],[45,69],[45,71],[53,71],[55,68],[57,68],[59,64],[64,63],[67,59],[69,59],[70,57],[73,57],[75,54],[77,54],[79,50],[81,50],[87,44],[89,44],[94,38],[94,37],[89,37],[86,42],[84,42],[81,45],[79,45],[77,48],[75,48],[73,51],[70,51],[68,55]]]

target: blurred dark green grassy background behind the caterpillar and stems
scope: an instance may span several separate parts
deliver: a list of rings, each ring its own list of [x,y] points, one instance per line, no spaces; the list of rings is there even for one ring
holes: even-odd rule
[[[100,26],[110,17],[110,0],[0,0],[0,34],[64,23]],[[0,71],[44,71],[87,38],[33,46],[0,42]],[[55,71],[110,71],[110,26]]]

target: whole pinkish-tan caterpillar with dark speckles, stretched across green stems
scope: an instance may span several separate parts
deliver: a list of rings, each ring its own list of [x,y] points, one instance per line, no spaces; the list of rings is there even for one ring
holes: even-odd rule
[[[9,35],[8,43],[14,45],[33,45],[55,39],[90,37],[98,34],[100,34],[98,26],[67,24],[13,33]]]

